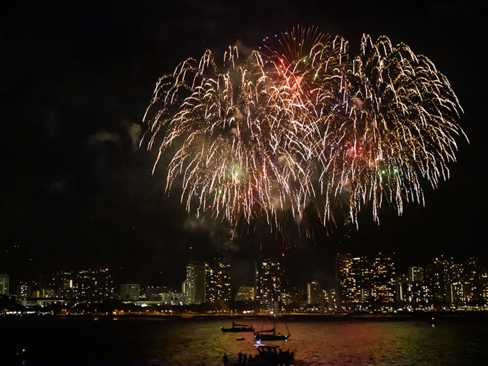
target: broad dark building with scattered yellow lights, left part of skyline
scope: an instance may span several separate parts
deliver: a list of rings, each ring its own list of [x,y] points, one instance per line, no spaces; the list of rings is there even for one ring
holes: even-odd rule
[[[74,299],[102,300],[113,298],[114,293],[114,282],[108,269],[83,270],[73,278]]]

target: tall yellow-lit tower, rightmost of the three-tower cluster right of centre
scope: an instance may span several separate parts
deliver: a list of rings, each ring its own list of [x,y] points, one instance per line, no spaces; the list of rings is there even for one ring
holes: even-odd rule
[[[371,300],[377,309],[392,309],[395,303],[393,254],[379,253],[371,263]]]

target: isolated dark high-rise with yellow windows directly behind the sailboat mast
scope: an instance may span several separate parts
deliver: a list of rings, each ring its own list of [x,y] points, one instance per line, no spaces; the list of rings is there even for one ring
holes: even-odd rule
[[[260,265],[255,264],[256,301],[265,309],[272,310],[281,301],[281,265],[277,261],[264,259]]]

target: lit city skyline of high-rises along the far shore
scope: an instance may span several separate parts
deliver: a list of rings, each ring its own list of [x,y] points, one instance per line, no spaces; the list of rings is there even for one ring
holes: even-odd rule
[[[163,284],[122,283],[108,269],[97,269],[52,273],[38,283],[20,282],[15,291],[9,291],[9,276],[0,274],[0,295],[3,302],[10,296],[11,301],[27,309],[59,311],[59,306],[63,306],[62,311],[69,313],[96,304],[103,309],[120,308],[122,303],[136,306],[132,308],[136,312],[147,306],[151,306],[146,309],[149,312],[168,311],[167,306],[171,306],[169,309],[174,312],[215,313],[239,308],[243,314],[488,308],[488,267],[477,258],[455,262],[437,257],[425,267],[411,266],[407,273],[400,273],[392,254],[355,257],[337,253],[332,285],[317,281],[290,285],[286,269],[269,258],[255,264],[254,286],[232,283],[229,270],[230,265],[221,258],[203,263],[190,261],[180,289]],[[188,305],[189,308],[181,307]]]

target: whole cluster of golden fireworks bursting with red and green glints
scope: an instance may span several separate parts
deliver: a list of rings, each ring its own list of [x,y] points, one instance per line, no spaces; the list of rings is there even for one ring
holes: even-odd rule
[[[181,185],[188,211],[282,231],[287,214],[300,223],[313,207],[327,225],[340,206],[357,225],[448,178],[462,108],[425,56],[363,36],[351,57],[315,27],[263,41],[245,60],[229,47],[222,67],[206,51],[156,84],[141,145],[158,145],[154,168],[169,157],[166,189]]]

